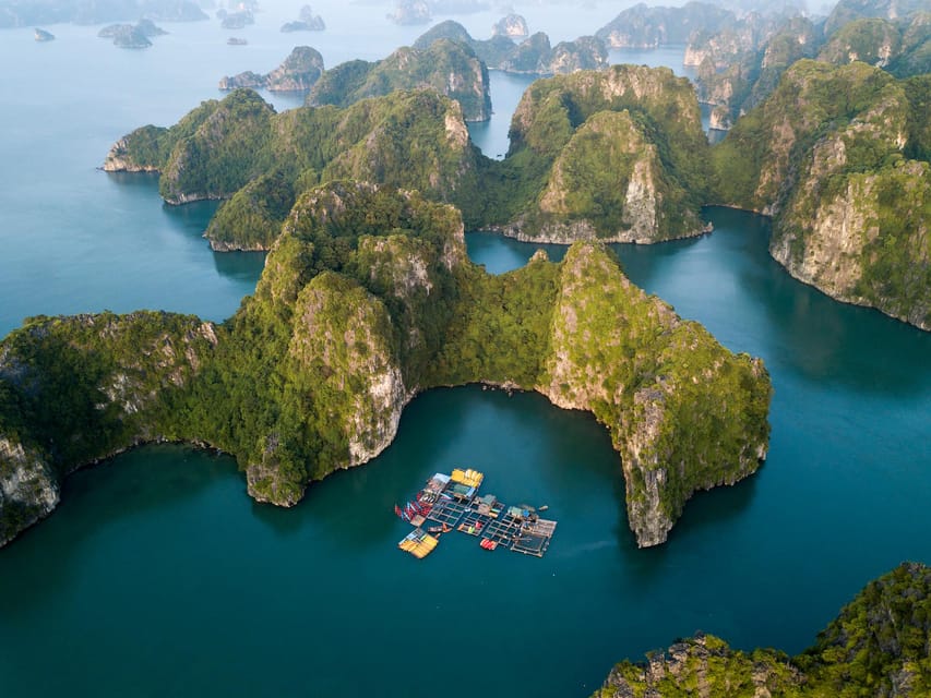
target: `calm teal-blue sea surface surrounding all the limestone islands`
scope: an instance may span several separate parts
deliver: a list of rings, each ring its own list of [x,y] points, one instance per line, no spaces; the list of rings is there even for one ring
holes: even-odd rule
[[[51,44],[0,33],[0,64],[16,67],[0,75],[0,334],[37,313],[235,312],[262,255],[210,251],[213,205],[168,207],[153,178],[95,168],[123,133],[174,123],[222,75],[271,70],[295,44],[333,65],[422,31],[382,21],[385,5],[353,24],[318,4],[319,35],[277,32],[296,4],[242,32],[166,24],[138,52],[99,27],[52,26]],[[524,13],[558,39],[613,13],[558,10],[549,24]],[[485,37],[496,19],[464,23]],[[497,156],[526,81],[492,81],[496,119],[473,133]],[[617,250],[636,284],[764,358],[772,447],[755,477],[697,495],[666,545],[636,549],[605,430],[537,395],[422,395],[380,458],[290,510],[253,504],[227,457],[141,448],[70,478],[55,515],[0,551],[0,694],[585,696],[616,660],[699,629],[799,651],[870,578],[931,563],[931,336],[789,278],[762,219],[707,214],[709,236]],[[535,249],[467,242],[493,273]],[[505,502],[548,504],[549,554],[459,534],[425,561],[398,552],[408,527],[392,506],[454,466],[484,470]]]

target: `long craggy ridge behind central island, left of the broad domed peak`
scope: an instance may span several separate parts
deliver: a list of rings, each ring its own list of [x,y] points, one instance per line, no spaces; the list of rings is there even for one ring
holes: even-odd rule
[[[203,103],[170,129],[143,127],[120,139],[108,171],[158,171],[172,204],[231,198],[207,237],[216,249],[267,249],[283,213],[321,181],[355,178],[484,214],[481,158],[456,101],[432,91],[395,92],[346,108],[275,113],[259,95],[236,91]]]

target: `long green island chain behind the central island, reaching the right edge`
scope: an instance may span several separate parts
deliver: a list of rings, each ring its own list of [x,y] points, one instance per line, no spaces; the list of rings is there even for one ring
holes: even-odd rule
[[[311,100],[335,99],[354,68],[324,77]],[[372,70],[359,62],[355,84]],[[282,115],[234,93],[170,129],[130,133],[104,167],[160,171],[169,203],[228,198],[207,230],[219,250],[268,249],[302,189],[342,177],[452,203],[469,229],[565,244],[702,234],[701,207],[726,204],[774,218],[773,256],[797,278],[929,329],[929,91],[927,74],[798,61],[709,146],[685,79],[578,71],[527,89],[502,161],[468,143],[462,107],[435,92]]]

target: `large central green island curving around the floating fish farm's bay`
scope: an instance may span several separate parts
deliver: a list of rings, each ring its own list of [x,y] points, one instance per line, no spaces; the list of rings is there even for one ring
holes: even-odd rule
[[[354,181],[298,196],[255,294],[220,327],[40,320],[0,349],[0,430],[47,449],[56,472],[187,440],[234,454],[249,493],[282,506],[378,455],[407,401],[440,385],[592,410],[622,455],[641,545],[666,539],[694,491],[752,472],[768,434],[762,364],[645,297],[605,249],[488,275],[455,208]]]

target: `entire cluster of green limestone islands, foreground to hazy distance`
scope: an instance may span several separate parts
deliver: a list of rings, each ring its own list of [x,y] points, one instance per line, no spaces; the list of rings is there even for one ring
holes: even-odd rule
[[[399,2],[393,19],[442,4]],[[0,3],[0,19],[17,7]],[[297,22],[283,31],[324,28],[310,8]],[[694,83],[608,61],[672,44]],[[540,76],[503,160],[466,129],[491,113],[489,70]],[[931,13],[918,0],[842,0],[819,19],[641,4],[556,47],[518,15],[490,39],[449,21],[380,61],[326,69],[300,46],[219,87],[175,125],[128,133],[104,169],[158,172],[169,204],[222,201],[205,237],[268,251],[255,292],[219,324],[38,316],[4,338],[0,544],[55,508],[69,472],[158,441],[232,454],[252,497],[293,506],[387,447],[418,393],[469,383],[592,412],[637,543],[661,544],[695,492],[757,469],[773,387],[762,360],[633,286],[606,243],[705,234],[707,205],[771,217],[769,252],[793,277],[931,330]],[[254,88],[306,91],[306,104],[278,113]],[[715,145],[702,103],[728,130]],[[466,229],[571,246],[493,276],[468,260]],[[904,564],[798,657],[696,636],[619,664],[596,695],[927,695],[929,591],[931,571]]]

